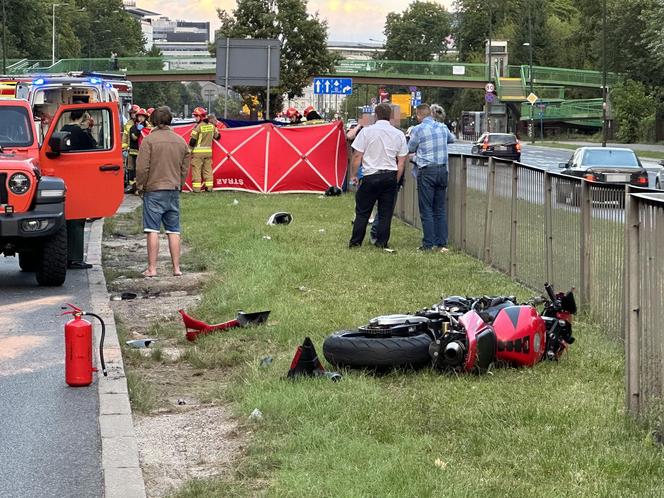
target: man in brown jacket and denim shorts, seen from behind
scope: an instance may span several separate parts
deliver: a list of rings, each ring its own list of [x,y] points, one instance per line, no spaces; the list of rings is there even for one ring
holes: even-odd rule
[[[136,161],[136,188],[143,195],[143,232],[148,241],[148,268],[143,275],[157,276],[163,224],[173,275],[180,276],[180,191],[189,169],[189,147],[169,128],[173,115],[168,107],[155,109],[151,119],[154,129],[143,139]]]

